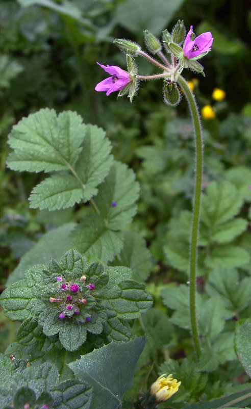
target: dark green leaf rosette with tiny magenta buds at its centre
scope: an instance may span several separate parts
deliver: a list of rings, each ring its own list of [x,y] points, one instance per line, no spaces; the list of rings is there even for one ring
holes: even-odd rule
[[[101,263],[89,265],[78,251],[69,250],[60,263],[30,268],[26,279],[3,292],[0,305],[12,319],[37,317],[43,333],[59,334],[69,351],[86,341],[87,331],[106,342],[127,342],[132,335],[128,320],[152,306],[152,296],[131,276],[127,267],[105,271]]]

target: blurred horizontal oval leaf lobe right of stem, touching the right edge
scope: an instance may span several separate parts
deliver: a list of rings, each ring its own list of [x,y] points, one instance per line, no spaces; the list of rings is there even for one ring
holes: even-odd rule
[[[206,257],[205,264],[213,269],[219,267],[240,267],[250,261],[250,256],[242,247],[233,245],[218,245]]]

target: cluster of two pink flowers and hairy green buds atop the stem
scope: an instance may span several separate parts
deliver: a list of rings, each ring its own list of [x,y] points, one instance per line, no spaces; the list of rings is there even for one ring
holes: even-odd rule
[[[181,20],[178,20],[177,24],[175,24],[171,34],[167,30],[163,31],[162,43],[164,47],[161,41],[152,33],[149,33],[148,30],[144,31],[146,47],[151,54],[157,58],[159,57],[162,62],[150,57],[147,53],[143,52],[138,44],[130,40],[115,39],[114,43],[127,55],[128,70],[124,71],[116,65],[105,66],[97,62],[111,76],[98,83],[95,90],[105,91],[106,95],[119,91],[118,96],[128,94],[130,101],[132,101],[138,89],[139,80],[162,79],[164,80],[164,100],[166,104],[175,107],[181,99],[177,82],[179,82],[182,70],[190,68],[205,76],[204,68],[197,60],[204,57],[211,50],[213,43],[213,37],[210,32],[195,37],[193,26],[191,25],[185,38],[185,31],[184,22]],[[183,47],[181,47],[182,43]],[[162,48],[166,50],[170,57],[164,55]],[[133,60],[133,57],[137,56],[146,58],[150,63],[160,68],[161,72],[153,75],[138,75],[137,67]]]

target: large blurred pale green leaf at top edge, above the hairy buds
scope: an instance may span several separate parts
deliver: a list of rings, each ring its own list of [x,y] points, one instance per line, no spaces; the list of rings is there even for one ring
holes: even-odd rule
[[[127,0],[117,7],[116,20],[122,27],[136,34],[146,29],[160,34],[182,3],[183,0]]]

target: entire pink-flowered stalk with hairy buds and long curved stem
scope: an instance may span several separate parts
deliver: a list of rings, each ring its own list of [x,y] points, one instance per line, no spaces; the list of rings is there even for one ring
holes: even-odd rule
[[[200,128],[199,113],[196,106],[194,95],[189,88],[186,80],[181,75],[184,68],[200,72],[204,76],[204,67],[197,61],[206,56],[211,50],[213,43],[212,34],[207,32],[195,36],[193,26],[186,36],[184,22],[178,20],[171,33],[168,30],[163,31],[162,42],[147,30],[144,31],[144,41],[150,54],[145,53],[141,47],[124,39],[115,39],[114,43],[127,56],[128,70],[123,71],[119,67],[101,65],[108,71],[112,77],[97,84],[97,91],[106,91],[107,95],[115,90],[119,90],[118,96],[128,94],[130,101],[136,94],[140,80],[163,80],[163,94],[166,104],[175,107],[181,100],[182,89],[190,107],[190,112],[194,125],[195,133],[195,191],[193,199],[193,218],[191,226],[191,245],[190,245],[190,276],[189,276],[189,308],[192,328],[192,336],[197,356],[201,353],[197,318],[196,318],[196,260],[197,260],[197,242],[200,213],[200,198],[202,190],[202,171],[203,171],[203,143],[202,130]],[[139,75],[133,57],[144,57],[150,63],[160,69],[160,72],[154,75]],[[112,206],[114,204],[112,203]]]

